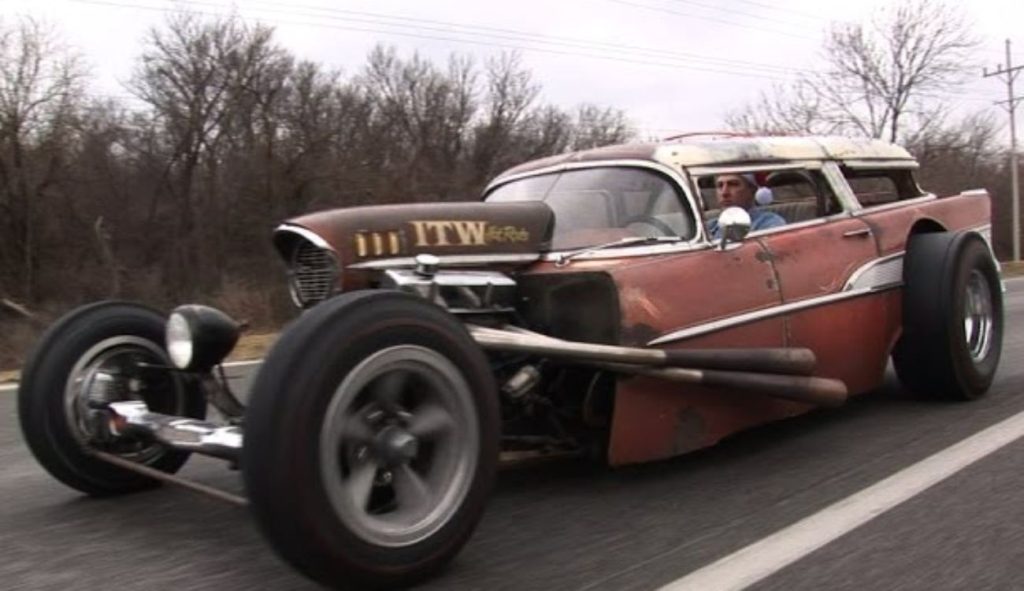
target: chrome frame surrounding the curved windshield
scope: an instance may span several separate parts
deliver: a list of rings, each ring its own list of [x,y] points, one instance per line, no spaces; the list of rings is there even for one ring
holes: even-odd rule
[[[483,189],[482,200],[486,200],[494,191],[500,186],[504,186],[510,182],[517,180],[522,180],[524,178],[529,178],[534,176],[542,176],[546,174],[565,172],[569,170],[582,170],[590,168],[641,168],[653,171],[662,176],[666,177],[666,180],[672,183],[673,187],[676,188],[679,195],[682,195],[685,199],[681,200],[680,207],[683,208],[684,213],[689,213],[693,216],[694,224],[696,225],[696,231],[690,239],[680,239],[678,242],[671,242],[666,244],[650,245],[650,244],[637,244],[637,245],[626,245],[622,247],[604,248],[601,250],[594,251],[592,253],[587,253],[584,256],[580,256],[575,260],[584,260],[591,258],[622,258],[624,256],[645,256],[649,254],[660,254],[660,253],[671,253],[677,251],[688,251],[694,250],[696,248],[706,248],[709,244],[707,228],[703,223],[703,215],[700,208],[696,206],[696,201],[691,191],[689,179],[684,173],[676,170],[665,164],[653,162],[649,160],[594,160],[589,162],[568,162],[557,164],[554,166],[549,166],[545,168],[539,168],[537,170],[530,170],[528,172],[522,172],[519,174],[513,174],[509,176],[499,176],[495,180],[487,184],[486,188]],[[689,208],[686,212],[685,209]],[[557,260],[566,252],[571,252],[579,249],[559,249],[551,250],[544,253],[543,260]]]

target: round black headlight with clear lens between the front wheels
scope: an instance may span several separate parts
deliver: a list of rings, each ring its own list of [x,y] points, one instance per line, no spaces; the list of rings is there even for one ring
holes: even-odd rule
[[[210,306],[187,304],[167,319],[167,352],[179,370],[208,371],[231,352],[239,324]]]

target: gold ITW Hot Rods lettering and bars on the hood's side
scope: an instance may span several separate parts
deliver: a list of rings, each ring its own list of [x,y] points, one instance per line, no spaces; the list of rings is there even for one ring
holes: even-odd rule
[[[416,248],[486,246],[524,243],[529,230],[515,225],[494,225],[484,220],[417,220],[409,222],[412,236],[396,230],[355,234],[357,256],[399,255],[412,242]]]

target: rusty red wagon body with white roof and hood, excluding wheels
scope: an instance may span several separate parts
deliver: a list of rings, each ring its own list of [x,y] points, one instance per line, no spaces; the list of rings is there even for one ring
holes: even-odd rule
[[[484,195],[509,179],[552,174],[590,167],[656,167],[684,187],[697,174],[728,170],[772,170],[802,163],[805,168],[831,167],[830,182],[841,183],[837,172],[848,164],[859,170],[909,172],[916,168],[901,149],[871,140],[846,138],[708,138],[668,144],[617,145],[586,153],[557,156],[528,163],[496,179]],[[693,171],[696,171],[695,173]],[[824,176],[824,175],[823,175]],[[849,187],[834,188],[835,193]],[[852,193],[852,192],[851,192]],[[921,192],[882,206],[863,207],[850,196],[836,215],[754,235],[735,250],[719,252],[711,241],[685,248],[662,248],[644,253],[643,247],[615,249],[615,255],[580,260],[559,266],[550,247],[536,261],[523,259],[519,277],[553,278],[559,275],[600,272],[614,285],[620,308],[616,344],[665,348],[707,347],[807,347],[818,360],[815,375],[842,380],[851,394],[878,387],[901,330],[901,292],[898,281],[901,254],[918,231],[970,229],[988,236],[989,198],[983,191],[938,196]],[[497,218],[487,205],[458,204],[431,209],[430,219],[458,224],[471,220],[492,226],[529,220],[529,236],[543,234],[543,215],[511,214]],[[496,245],[451,240],[419,240],[424,223],[415,220],[415,207],[367,208],[355,218],[354,210],[341,210],[293,220],[298,226],[324,236],[341,249],[354,251],[366,239],[360,233],[387,233],[396,237],[393,252],[380,249],[381,260],[431,252],[442,257],[501,253],[538,253],[549,246],[529,242]],[[482,209],[481,209],[482,208]],[[497,213],[497,212],[496,212]],[[700,212],[705,213],[705,212]],[[350,217],[351,216],[351,217]],[[397,218],[392,217],[397,216]],[[341,218],[358,219],[350,223]],[[372,221],[371,221],[372,220]],[[431,228],[433,231],[433,228]],[[438,237],[443,231],[437,229]],[[285,233],[287,235],[287,231]],[[330,238],[328,238],[330,237]],[[355,237],[355,238],[352,238]],[[609,234],[607,239],[614,239]],[[425,247],[425,248],[424,248]],[[497,248],[496,248],[497,247]],[[646,250],[650,250],[649,248]],[[374,258],[377,253],[355,257]],[[343,258],[349,258],[343,255]],[[466,264],[453,259],[456,264]],[[481,262],[500,264],[497,258]],[[351,281],[366,285],[359,268],[379,269],[373,263],[354,265]],[[858,287],[858,273],[889,266],[897,281]],[[680,299],[685,298],[686,305]],[[723,322],[741,316],[740,322]],[[674,333],[679,336],[667,338]],[[569,336],[574,335],[556,335]],[[666,458],[707,447],[722,437],[757,424],[802,414],[813,405],[742,391],[678,384],[648,377],[617,380],[614,416],[607,459],[612,465]]]

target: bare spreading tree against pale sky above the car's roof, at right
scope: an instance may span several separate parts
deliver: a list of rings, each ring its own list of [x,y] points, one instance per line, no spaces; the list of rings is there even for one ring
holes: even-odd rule
[[[928,103],[963,82],[976,43],[958,9],[941,0],[907,0],[868,24],[834,26],[823,72],[800,77],[795,92],[776,87],[727,121],[745,130],[824,130],[896,141],[934,118]]]

